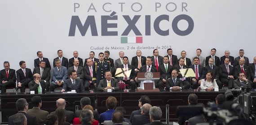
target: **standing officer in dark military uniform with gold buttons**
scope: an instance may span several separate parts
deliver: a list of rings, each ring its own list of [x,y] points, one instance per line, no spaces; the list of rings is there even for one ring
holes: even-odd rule
[[[110,65],[108,62],[104,61],[104,53],[99,53],[99,60],[94,63],[96,69],[96,84],[99,85],[100,80],[104,79],[104,73],[110,70]]]

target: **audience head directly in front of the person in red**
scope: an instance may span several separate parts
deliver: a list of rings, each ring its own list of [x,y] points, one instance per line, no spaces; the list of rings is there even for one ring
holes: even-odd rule
[[[94,119],[94,116],[93,116],[93,111],[91,111],[90,109],[83,109],[81,111],[81,121],[83,123],[93,123],[93,119]]]

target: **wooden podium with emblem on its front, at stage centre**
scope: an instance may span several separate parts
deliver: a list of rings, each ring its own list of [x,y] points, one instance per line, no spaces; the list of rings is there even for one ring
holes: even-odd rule
[[[138,89],[137,92],[159,92],[158,88],[155,88],[154,80],[159,80],[160,73],[159,72],[152,72],[153,78],[147,79],[145,78],[145,73],[137,73],[138,80],[141,81],[141,87]]]

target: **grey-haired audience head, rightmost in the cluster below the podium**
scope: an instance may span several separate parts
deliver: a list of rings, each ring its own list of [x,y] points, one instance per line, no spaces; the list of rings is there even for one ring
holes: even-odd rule
[[[159,107],[153,106],[150,108],[150,122],[159,121],[162,117],[162,110]]]

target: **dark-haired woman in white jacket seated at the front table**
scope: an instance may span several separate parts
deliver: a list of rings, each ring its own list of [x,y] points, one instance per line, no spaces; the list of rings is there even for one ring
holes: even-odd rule
[[[202,90],[214,90],[215,88],[219,88],[216,83],[216,79],[213,79],[212,71],[208,71],[206,73],[205,79],[201,80],[201,89]]]

